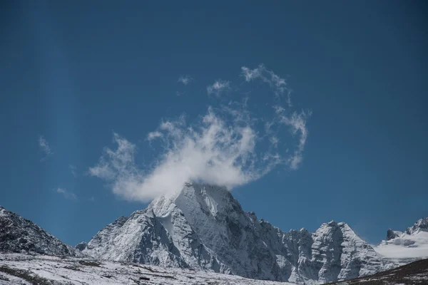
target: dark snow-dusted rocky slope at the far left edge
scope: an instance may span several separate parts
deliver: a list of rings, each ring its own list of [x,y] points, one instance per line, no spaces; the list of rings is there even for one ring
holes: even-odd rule
[[[0,206],[0,252],[22,252],[66,257],[82,256],[34,222]]]

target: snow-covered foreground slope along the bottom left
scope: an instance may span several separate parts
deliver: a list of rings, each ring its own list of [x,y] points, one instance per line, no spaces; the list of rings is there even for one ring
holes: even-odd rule
[[[85,258],[0,254],[0,285],[288,285],[207,271]],[[292,285],[292,284],[290,284]]]

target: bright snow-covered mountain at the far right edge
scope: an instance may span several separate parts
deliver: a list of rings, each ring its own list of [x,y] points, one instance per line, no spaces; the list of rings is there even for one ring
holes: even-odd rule
[[[392,266],[428,258],[428,218],[419,219],[404,232],[389,229],[387,239],[375,246],[374,250],[385,263]]]

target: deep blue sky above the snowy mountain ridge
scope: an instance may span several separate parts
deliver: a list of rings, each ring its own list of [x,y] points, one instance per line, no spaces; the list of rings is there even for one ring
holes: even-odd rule
[[[428,216],[424,1],[1,5],[0,204],[68,244],[146,207],[163,181],[222,182],[243,130],[255,146],[225,183],[283,230],[335,219],[376,243]],[[209,106],[218,120],[204,125]],[[149,181],[187,166],[183,138],[204,144],[218,126],[235,136],[199,161],[213,168]],[[165,151],[182,154],[169,172]]]

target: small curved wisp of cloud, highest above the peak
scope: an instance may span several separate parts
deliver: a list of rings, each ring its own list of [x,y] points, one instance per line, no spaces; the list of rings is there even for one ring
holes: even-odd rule
[[[280,97],[282,95],[287,95],[287,104],[291,106],[291,89],[287,87],[287,82],[284,78],[280,78],[273,71],[267,70],[263,64],[260,64],[258,68],[250,69],[245,66],[241,68],[242,75],[245,77],[245,81],[250,82],[255,79],[260,79],[265,83],[268,83],[272,90],[274,90],[275,95]]]

